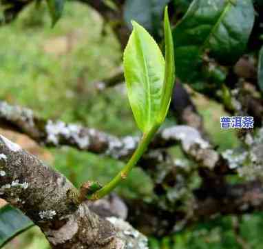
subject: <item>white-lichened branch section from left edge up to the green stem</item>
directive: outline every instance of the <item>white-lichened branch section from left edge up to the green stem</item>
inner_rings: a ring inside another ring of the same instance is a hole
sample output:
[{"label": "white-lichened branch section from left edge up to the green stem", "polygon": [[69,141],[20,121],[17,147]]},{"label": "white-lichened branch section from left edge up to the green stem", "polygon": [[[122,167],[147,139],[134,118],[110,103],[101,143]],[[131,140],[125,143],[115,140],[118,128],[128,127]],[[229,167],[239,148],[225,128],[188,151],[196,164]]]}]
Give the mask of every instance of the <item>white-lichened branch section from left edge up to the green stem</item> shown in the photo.
[{"label": "white-lichened branch section from left edge up to the green stem", "polygon": [[118,139],[104,132],[63,121],[36,117],[32,110],[0,101],[0,125],[10,125],[47,146],[72,146],[114,158],[127,157],[136,148],[138,138]]}]

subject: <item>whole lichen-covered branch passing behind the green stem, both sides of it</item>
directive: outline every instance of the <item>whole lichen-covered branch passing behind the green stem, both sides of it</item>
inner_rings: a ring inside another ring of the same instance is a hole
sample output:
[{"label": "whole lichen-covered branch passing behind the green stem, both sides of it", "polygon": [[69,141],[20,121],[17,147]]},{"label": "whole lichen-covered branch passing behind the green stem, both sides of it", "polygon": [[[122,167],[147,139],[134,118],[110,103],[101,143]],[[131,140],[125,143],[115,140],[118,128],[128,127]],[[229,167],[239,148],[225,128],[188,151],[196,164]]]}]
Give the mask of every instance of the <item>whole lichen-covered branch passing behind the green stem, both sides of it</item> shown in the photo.
[{"label": "whole lichen-covered branch passing behind the green stem, both sides of it", "polygon": [[[4,101],[0,101],[0,126],[1,123],[17,128],[47,146],[67,145],[116,159],[127,159],[136,149],[139,140],[138,137],[118,138],[93,128],[41,119],[28,108],[11,106]],[[220,161],[220,155],[213,150],[211,144],[202,139],[198,130],[189,126],[173,126],[161,130],[151,142],[150,148],[166,148],[176,144],[180,144],[185,154],[202,166],[213,168]],[[162,157],[160,152],[149,152],[144,157],[146,159],[160,162]]]}]

